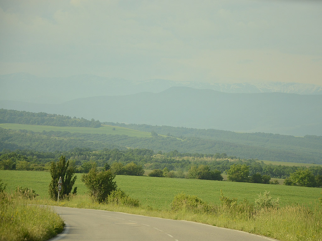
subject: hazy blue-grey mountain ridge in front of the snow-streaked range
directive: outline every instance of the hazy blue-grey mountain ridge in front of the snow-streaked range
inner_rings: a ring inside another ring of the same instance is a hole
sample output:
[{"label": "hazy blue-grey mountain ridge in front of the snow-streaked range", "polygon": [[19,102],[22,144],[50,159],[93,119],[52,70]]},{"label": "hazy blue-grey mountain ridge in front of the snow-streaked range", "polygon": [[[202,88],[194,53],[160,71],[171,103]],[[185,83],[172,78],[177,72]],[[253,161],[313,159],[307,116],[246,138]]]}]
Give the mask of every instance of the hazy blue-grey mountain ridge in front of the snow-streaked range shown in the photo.
[{"label": "hazy blue-grey mountain ridge in front of the snow-streaked range", "polygon": [[[28,91],[24,94],[38,95],[37,92]],[[57,98],[61,96],[63,91],[57,91]],[[321,94],[238,94],[171,87],[160,93],[94,96],[61,104],[2,100],[0,108],[56,113],[99,121],[322,136]]]}]

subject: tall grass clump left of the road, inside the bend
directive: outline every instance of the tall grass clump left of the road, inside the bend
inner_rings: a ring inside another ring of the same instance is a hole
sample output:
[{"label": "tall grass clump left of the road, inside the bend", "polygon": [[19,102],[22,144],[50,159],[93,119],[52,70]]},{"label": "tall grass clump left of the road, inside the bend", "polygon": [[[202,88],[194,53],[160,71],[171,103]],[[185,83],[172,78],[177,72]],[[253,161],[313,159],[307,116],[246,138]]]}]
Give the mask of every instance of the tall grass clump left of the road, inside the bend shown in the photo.
[{"label": "tall grass clump left of the road, inside the bend", "polygon": [[0,240],[48,240],[62,232],[64,222],[49,208],[28,205],[20,192],[0,192]]}]

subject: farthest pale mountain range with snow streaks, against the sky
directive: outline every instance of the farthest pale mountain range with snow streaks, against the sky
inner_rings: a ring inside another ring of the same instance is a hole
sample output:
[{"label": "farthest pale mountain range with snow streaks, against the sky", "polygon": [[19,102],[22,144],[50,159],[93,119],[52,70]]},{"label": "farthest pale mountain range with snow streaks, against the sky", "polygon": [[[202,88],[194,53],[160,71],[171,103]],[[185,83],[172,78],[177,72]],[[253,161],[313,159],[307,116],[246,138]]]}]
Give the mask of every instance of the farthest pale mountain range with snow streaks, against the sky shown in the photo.
[{"label": "farthest pale mountain range with snow streaks, against the sky", "polygon": [[118,96],[141,92],[159,93],[170,87],[191,87],[225,93],[322,94],[322,86],[299,83],[198,83],[164,79],[130,81],[95,75],[60,78],[37,77],[27,73],[0,75],[0,100],[58,104],[77,98]]}]

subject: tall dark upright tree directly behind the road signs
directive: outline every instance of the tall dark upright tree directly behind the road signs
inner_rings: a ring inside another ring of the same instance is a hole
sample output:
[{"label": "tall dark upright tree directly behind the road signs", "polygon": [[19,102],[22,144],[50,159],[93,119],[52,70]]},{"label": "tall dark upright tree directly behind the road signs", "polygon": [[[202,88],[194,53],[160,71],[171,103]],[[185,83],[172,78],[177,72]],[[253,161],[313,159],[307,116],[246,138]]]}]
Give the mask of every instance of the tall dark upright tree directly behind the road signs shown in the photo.
[{"label": "tall dark upright tree directly behind the road signs", "polygon": [[[60,191],[60,197],[62,199],[68,198],[71,193],[71,189],[76,181],[77,176],[73,167],[69,166],[69,161],[66,162],[66,157],[61,156],[58,162],[52,161],[49,166],[49,172],[52,176],[52,181],[49,184],[49,196],[52,200],[58,198],[58,182],[62,177],[62,191]],[[77,187],[74,188],[73,194],[76,194]]]}]

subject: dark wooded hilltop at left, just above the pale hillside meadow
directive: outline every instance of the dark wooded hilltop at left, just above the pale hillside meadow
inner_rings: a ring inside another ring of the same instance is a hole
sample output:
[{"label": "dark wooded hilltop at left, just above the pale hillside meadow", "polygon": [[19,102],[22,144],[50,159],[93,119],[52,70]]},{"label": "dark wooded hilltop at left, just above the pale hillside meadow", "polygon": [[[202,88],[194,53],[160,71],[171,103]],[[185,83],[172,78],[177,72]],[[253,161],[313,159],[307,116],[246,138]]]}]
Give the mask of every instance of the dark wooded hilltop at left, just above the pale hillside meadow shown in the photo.
[{"label": "dark wooded hilltop at left, just above the pale hillside meadow", "polygon": [[0,123],[15,123],[26,125],[45,125],[45,126],[78,126],[99,128],[101,123],[92,119],[71,118],[70,116],[47,114],[44,112],[33,113],[26,111],[15,111],[0,109]]}]

